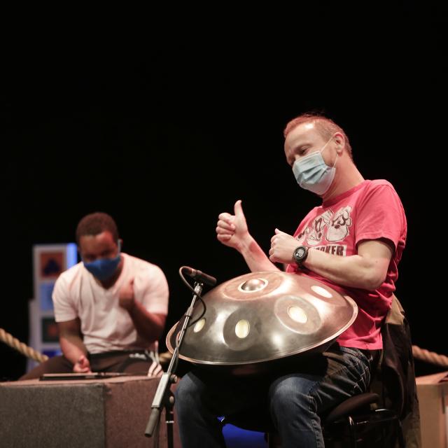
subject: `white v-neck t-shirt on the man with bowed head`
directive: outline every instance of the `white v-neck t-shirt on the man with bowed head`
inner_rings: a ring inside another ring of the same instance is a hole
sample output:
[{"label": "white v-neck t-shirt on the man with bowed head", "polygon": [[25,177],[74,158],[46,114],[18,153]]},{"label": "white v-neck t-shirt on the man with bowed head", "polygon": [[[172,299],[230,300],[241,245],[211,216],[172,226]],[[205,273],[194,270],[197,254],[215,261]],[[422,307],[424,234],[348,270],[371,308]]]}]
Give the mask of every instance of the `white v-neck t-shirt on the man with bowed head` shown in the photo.
[{"label": "white v-neck t-shirt on the man with bowed head", "polygon": [[151,313],[168,312],[168,283],[160,267],[140,258],[123,255],[123,269],[116,283],[104,289],[85,269],[83,262],[67,269],[57,279],[52,293],[57,322],[80,318],[84,344],[89,353],[112,350],[154,350],[137,335],[126,309],[118,304],[120,288],[134,279],[134,297]]}]

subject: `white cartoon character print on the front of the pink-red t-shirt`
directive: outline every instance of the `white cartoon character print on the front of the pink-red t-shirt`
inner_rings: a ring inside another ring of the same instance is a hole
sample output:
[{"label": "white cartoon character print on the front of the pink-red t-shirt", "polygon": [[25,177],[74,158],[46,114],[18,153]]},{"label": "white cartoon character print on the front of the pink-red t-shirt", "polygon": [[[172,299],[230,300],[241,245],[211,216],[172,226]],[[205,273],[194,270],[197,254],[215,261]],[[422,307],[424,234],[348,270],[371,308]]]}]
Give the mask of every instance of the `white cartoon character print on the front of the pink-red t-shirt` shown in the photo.
[{"label": "white cartoon character print on the front of the pink-red t-shirt", "polygon": [[337,255],[346,255],[346,244],[325,244],[328,242],[343,241],[350,235],[351,227],[351,207],[341,207],[336,213],[328,209],[323,214],[317,216],[311,225],[297,235],[299,244],[318,248],[321,251],[335,253]]}]

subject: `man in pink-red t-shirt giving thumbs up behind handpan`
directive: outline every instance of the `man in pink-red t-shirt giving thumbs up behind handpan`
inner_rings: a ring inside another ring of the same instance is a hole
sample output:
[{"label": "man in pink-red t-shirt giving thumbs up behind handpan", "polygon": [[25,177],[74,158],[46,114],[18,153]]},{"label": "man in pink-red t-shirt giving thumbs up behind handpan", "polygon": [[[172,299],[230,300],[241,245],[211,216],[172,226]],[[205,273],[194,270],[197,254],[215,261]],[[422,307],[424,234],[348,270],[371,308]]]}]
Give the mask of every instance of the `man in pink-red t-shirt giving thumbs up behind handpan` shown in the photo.
[{"label": "man in pink-red t-shirt giving thumbs up behind handpan", "polygon": [[[275,230],[269,258],[249,234],[241,201],[218,217],[218,240],[237,249],[252,272],[301,272],[358,304],[358,316],[315,366],[263,381],[223,381],[190,372],[177,389],[183,447],[225,446],[216,416],[267,402],[282,447],[323,447],[320,415],[367,391],[382,348],[381,323],[391,307],[406,241],[400,198],[387,181],[363,179],[344,130],[323,116],[304,114],[284,131],[286,160],[300,187],[322,198],[294,235]],[[324,360],[325,367],[322,369]],[[256,383],[256,384],[254,384]],[[264,389],[263,389],[264,388]]]}]

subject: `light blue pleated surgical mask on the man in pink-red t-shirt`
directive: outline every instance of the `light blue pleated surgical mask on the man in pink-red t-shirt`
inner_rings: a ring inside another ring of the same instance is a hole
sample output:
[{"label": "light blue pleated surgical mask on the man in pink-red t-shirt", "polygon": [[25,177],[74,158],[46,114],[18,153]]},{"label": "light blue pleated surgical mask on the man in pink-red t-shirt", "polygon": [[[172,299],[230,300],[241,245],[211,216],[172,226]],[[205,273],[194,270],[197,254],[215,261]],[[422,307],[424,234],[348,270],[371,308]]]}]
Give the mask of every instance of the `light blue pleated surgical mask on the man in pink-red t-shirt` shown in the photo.
[{"label": "light blue pleated surgical mask on the man in pink-red t-shirt", "polygon": [[324,195],[335,178],[337,158],[335,164],[329,167],[322,157],[322,151],[331,139],[332,137],[323,145],[321,151],[305,155],[295,160],[293,165],[293,173],[297,183],[305,190],[316,193],[316,195]]}]

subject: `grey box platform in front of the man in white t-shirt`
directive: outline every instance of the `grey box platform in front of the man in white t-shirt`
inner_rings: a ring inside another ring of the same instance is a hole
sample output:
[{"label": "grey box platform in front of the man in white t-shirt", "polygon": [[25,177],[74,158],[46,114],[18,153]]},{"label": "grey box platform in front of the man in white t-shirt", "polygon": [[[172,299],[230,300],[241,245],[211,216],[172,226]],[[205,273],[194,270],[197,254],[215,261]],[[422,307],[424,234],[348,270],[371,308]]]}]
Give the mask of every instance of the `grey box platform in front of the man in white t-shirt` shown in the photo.
[{"label": "grey box platform in front of the man in white t-shirt", "polygon": [[[155,437],[144,433],[157,386],[148,377],[2,382],[0,447],[153,447]],[[165,411],[159,430],[167,447]],[[174,447],[181,447],[176,416]]]}]

